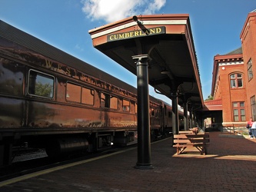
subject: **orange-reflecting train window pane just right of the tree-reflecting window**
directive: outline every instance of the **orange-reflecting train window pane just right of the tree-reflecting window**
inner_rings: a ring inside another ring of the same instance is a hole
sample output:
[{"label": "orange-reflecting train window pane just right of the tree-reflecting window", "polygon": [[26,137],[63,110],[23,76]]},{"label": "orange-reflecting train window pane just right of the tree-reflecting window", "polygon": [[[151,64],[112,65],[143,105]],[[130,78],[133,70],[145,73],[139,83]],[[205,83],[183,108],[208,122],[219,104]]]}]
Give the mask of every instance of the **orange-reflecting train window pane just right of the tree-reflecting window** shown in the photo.
[{"label": "orange-reflecting train window pane just right of the tree-reflecting window", "polygon": [[67,101],[81,102],[81,86],[67,83]]}]

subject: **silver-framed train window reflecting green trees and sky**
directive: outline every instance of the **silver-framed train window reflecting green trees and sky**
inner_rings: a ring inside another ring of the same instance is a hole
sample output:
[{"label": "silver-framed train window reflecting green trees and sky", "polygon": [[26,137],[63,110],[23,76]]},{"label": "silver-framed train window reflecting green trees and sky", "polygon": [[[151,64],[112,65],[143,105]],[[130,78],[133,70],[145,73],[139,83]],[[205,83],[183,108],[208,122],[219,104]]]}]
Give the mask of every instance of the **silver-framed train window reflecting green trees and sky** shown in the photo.
[{"label": "silver-framed train window reflecting green trees and sky", "polygon": [[39,73],[38,71],[29,71],[28,94],[52,98],[54,88],[54,77]]}]

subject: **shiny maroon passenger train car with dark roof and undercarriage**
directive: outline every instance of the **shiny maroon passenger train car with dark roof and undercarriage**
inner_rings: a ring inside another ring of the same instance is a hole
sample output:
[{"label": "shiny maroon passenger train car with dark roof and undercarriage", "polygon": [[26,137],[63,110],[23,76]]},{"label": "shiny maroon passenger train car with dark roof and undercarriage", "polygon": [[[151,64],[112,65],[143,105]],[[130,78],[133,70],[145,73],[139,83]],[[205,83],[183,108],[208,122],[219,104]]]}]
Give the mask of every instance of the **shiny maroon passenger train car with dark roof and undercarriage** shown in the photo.
[{"label": "shiny maroon passenger train car with dark roof and undercarriage", "polygon": [[[136,88],[0,21],[0,166],[26,142],[55,157],[137,142]],[[150,97],[151,137],[171,106]]]}]

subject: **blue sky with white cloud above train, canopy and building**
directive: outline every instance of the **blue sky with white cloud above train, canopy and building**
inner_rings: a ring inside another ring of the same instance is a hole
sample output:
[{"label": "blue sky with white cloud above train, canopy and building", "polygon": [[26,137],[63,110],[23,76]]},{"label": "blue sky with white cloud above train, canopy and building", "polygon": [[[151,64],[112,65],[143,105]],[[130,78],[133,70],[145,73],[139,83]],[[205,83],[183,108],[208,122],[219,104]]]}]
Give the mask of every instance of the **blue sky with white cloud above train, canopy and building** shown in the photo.
[{"label": "blue sky with white cloud above train, canopy and building", "polygon": [[[190,16],[204,99],[211,94],[214,55],[241,47],[255,0],[0,0],[0,19],[136,87],[136,77],[93,48],[88,31],[133,15]],[[150,88],[150,94],[170,102]]]}]

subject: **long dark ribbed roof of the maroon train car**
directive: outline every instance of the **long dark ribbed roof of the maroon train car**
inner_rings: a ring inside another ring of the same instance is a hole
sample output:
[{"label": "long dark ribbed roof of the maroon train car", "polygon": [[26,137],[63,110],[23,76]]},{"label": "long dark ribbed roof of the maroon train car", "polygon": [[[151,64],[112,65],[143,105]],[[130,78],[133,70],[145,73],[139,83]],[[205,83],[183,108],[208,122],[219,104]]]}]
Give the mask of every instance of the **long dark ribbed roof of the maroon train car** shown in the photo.
[{"label": "long dark ribbed roof of the maroon train car", "polygon": [[8,25],[2,20],[0,20],[0,37],[5,38],[8,41],[12,41],[15,44],[22,45],[23,47],[28,48],[32,51],[38,52],[47,58],[51,58],[52,60],[68,65],[71,68],[75,68],[79,71],[89,74],[92,77],[104,80],[110,84],[114,84],[118,88],[124,88],[131,93],[137,94],[137,89],[130,84],[127,84],[124,81],[121,81],[120,79],[115,78],[111,74],[101,71],[100,69],[95,68],[92,65],[89,65],[85,61],[81,61],[80,59],[69,55],[65,51],[49,45],[45,41],[29,35],[25,31],[21,31],[18,28],[13,27],[12,25]]}]

